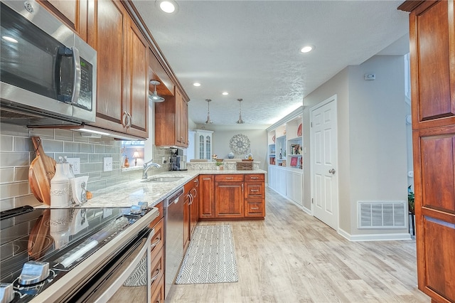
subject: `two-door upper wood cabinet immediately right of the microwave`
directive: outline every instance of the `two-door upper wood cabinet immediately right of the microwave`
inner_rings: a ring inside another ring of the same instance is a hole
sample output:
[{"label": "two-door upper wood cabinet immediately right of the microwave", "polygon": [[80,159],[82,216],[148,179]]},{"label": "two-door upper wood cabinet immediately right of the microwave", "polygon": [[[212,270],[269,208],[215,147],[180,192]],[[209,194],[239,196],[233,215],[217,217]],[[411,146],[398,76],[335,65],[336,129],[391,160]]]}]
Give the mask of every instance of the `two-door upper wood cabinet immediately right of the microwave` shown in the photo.
[{"label": "two-door upper wood cabinet immediately right of the microwave", "polygon": [[97,50],[94,126],[148,137],[148,44],[121,2],[95,1],[88,43]]}]

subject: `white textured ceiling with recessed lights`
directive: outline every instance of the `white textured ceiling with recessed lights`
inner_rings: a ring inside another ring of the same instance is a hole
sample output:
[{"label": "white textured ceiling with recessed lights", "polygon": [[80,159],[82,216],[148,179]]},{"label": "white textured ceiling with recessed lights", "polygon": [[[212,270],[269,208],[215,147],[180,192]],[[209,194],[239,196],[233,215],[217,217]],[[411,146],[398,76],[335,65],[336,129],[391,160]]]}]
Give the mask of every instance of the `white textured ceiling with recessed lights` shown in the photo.
[{"label": "white textured ceiling with recessed lights", "polygon": [[[196,124],[207,119],[207,98],[217,125],[235,124],[237,98],[245,124],[273,124],[343,68],[408,33],[402,1],[177,2],[165,14],[153,0],[133,1],[191,98]],[[299,53],[306,44],[316,49]]]}]

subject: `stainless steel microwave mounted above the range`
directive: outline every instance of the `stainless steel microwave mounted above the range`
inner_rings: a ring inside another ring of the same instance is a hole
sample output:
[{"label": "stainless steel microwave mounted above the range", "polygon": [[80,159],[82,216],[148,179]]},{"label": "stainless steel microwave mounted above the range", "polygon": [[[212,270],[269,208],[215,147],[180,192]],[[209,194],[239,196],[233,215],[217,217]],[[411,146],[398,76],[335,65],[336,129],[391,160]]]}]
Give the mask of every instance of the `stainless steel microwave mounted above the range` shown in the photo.
[{"label": "stainless steel microwave mounted above the range", "polygon": [[97,53],[36,1],[1,1],[1,122],[95,122]]}]

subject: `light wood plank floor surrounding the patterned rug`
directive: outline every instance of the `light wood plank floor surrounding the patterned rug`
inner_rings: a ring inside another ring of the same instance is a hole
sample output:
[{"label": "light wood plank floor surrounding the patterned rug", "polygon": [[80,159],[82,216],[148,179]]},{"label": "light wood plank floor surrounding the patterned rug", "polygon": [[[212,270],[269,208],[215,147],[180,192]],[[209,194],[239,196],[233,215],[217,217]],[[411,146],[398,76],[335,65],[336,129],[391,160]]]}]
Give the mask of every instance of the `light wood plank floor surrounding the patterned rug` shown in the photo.
[{"label": "light wood plank floor surrounding the patterned rug", "polygon": [[265,220],[230,224],[239,282],[173,285],[166,302],[430,302],[415,240],[349,242],[267,188]]}]

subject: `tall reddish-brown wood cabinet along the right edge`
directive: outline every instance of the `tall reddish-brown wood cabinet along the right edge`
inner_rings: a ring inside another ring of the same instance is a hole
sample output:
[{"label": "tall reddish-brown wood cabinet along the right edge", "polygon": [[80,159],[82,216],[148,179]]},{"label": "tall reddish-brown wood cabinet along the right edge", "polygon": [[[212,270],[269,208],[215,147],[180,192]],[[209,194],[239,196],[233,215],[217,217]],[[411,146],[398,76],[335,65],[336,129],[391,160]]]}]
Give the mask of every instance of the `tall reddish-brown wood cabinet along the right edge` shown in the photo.
[{"label": "tall reddish-brown wood cabinet along the right edge", "polygon": [[412,145],[419,289],[455,302],[455,4],[405,1],[410,11]]}]

